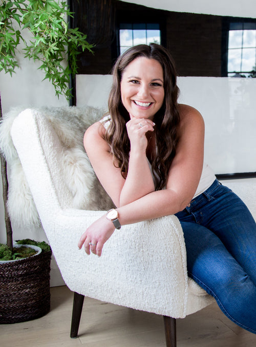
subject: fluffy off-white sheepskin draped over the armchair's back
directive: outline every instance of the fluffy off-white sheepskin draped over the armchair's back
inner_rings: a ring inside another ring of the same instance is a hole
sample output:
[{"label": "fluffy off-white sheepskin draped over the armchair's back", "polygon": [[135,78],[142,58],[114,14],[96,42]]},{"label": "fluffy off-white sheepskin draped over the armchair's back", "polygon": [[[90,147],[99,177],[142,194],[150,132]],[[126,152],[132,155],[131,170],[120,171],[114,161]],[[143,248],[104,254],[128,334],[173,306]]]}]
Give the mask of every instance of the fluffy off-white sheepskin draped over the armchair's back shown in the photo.
[{"label": "fluffy off-white sheepskin draped over the armchair's back", "polygon": [[[20,226],[40,225],[25,174],[11,139],[11,126],[24,108],[12,108],[0,124],[0,148],[8,164],[8,212]],[[113,202],[99,183],[83,148],[86,129],[102,118],[105,110],[95,107],[37,108],[51,123],[63,145],[63,176],[73,196],[73,206],[82,210],[108,210]]]}]

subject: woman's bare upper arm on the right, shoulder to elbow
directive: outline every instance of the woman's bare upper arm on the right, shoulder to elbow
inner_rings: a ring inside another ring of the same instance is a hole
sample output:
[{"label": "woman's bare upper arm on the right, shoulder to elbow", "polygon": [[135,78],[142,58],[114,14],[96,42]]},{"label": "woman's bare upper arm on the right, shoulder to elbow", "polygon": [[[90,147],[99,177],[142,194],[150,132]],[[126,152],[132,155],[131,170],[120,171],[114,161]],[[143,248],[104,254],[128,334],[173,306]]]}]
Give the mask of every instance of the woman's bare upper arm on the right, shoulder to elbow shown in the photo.
[{"label": "woman's bare upper arm on the right, shoulder to elbow", "polygon": [[193,198],[202,174],[204,121],[195,108],[187,105],[180,105],[180,115],[179,142],[166,189],[177,193],[182,210]]}]

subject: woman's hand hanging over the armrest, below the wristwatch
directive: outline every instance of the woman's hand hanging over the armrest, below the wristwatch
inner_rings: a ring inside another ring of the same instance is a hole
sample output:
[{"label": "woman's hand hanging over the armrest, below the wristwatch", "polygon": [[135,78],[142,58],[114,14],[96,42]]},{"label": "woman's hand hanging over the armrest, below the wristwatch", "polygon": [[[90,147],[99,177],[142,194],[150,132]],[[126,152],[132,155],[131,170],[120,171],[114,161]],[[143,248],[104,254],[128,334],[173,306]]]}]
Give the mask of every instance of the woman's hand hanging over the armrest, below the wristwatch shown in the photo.
[{"label": "woman's hand hanging over the armrest, below the wristwatch", "polygon": [[88,255],[90,252],[98,257],[101,256],[104,243],[111,237],[115,231],[114,224],[106,219],[106,215],[93,222],[82,234],[78,242],[78,248],[84,245],[84,250]]}]

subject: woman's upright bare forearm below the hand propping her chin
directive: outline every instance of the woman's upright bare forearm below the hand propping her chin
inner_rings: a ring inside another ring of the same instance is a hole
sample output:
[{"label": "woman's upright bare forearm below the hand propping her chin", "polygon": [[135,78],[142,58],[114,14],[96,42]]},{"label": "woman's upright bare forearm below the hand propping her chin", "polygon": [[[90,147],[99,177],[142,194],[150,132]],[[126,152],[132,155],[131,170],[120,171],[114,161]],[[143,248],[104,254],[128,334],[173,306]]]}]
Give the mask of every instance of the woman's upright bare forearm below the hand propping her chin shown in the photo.
[{"label": "woman's upright bare forearm below the hand propping her chin", "polygon": [[129,204],[155,191],[146,154],[131,151],[129,170],[120,194],[120,206]]}]

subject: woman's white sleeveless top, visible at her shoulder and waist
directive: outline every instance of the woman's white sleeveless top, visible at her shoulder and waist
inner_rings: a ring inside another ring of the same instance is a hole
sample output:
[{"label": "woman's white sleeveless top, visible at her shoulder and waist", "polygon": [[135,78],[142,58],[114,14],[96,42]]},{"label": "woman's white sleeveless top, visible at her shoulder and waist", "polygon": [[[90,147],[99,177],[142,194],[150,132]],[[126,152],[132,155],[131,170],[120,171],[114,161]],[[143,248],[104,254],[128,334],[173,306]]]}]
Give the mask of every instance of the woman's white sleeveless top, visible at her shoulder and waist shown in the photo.
[{"label": "woman's white sleeveless top, visible at her shoulder and waist", "polygon": [[[100,120],[100,123],[103,125],[105,129],[108,129],[111,123],[110,115],[106,115],[102,120]],[[148,165],[150,165],[150,168],[151,168],[150,161],[149,160],[147,161],[148,161]],[[151,172],[152,172],[152,168],[151,168]],[[204,163],[201,178],[200,178],[200,181],[199,181],[199,184],[193,199],[197,197],[198,195],[202,194],[204,191],[206,191],[206,189],[208,189],[215,180],[216,180],[216,176],[214,174],[214,171],[208,166],[208,164]]]}]

